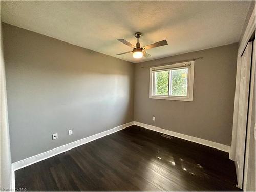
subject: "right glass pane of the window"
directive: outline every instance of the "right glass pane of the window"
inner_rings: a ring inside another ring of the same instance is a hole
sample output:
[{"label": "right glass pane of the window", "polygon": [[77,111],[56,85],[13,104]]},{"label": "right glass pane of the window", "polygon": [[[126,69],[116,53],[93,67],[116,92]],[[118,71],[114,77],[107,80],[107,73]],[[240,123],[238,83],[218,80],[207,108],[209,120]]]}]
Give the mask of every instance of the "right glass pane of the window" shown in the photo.
[{"label": "right glass pane of the window", "polygon": [[170,71],[171,78],[171,96],[187,96],[187,73],[188,68],[175,69]]}]

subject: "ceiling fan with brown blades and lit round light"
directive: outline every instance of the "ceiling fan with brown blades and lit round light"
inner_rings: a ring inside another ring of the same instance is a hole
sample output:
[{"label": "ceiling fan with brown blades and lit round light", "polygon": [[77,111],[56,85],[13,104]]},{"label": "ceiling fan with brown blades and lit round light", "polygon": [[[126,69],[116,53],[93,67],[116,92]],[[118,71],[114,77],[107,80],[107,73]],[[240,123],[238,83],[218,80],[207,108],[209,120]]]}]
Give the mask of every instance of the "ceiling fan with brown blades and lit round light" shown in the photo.
[{"label": "ceiling fan with brown blades and lit round light", "polygon": [[124,53],[119,53],[117,55],[122,55],[122,54],[126,54],[126,53],[131,53],[133,52],[133,57],[136,58],[136,59],[139,59],[141,58],[142,56],[144,57],[150,57],[151,55],[146,53],[144,50],[146,49],[151,49],[151,48],[154,48],[154,47],[159,47],[159,46],[164,46],[164,45],[168,45],[167,41],[166,40],[161,40],[159,42],[155,42],[154,44],[150,44],[150,45],[147,45],[147,46],[142,46],[140,47],[140,43],[139,43],[139,38],[141,37],[141,33],[140,32],[136,32],[134,34],[134,36],[137,38],[137,43],[136,43],[136,46],[134,46],[133,44],[131,44],[130,42],[124,40],[124,39],[117,39],[119,40],[120,42],[122,42],[123,44],[127,45],[127,46],[130,46],[131,48],[133,48],[132,51],[127,51],[127,52],[124,52]]}]

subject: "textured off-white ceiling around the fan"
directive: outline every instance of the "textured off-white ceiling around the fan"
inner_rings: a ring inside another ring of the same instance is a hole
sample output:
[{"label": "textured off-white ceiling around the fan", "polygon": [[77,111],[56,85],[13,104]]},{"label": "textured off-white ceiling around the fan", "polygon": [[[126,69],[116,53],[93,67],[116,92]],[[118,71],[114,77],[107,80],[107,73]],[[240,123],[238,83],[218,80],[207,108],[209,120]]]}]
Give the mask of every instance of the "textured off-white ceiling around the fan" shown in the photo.
[{"label": "textured off-white ceiling around the fan", "polygon": [[[1,1],[3,22],[131,62],[238,42],[250,1]],[[117,41],[167,46],[134,59]]]}]

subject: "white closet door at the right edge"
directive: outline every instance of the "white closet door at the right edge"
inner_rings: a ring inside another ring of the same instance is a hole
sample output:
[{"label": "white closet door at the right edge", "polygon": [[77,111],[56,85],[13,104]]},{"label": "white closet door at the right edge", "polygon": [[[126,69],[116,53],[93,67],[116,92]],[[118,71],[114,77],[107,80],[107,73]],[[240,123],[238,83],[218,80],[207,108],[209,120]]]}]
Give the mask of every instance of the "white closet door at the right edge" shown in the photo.
[{"label": "white closet door at the right edge", "polygon": [[236,149],[236,171],[238,187],[243,186],[244,156],[245,156],[245,138],[247,127],[248,98],[250,86],[250,68],[252,42],[248,42],[241,58],[241,76],[238,104],[238,124],[237,124],[237,149]]}]

